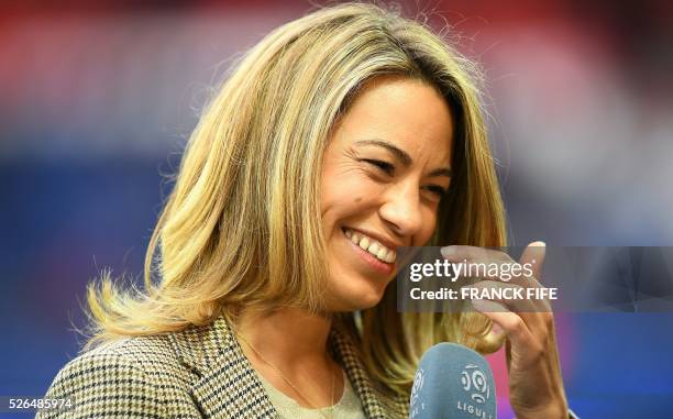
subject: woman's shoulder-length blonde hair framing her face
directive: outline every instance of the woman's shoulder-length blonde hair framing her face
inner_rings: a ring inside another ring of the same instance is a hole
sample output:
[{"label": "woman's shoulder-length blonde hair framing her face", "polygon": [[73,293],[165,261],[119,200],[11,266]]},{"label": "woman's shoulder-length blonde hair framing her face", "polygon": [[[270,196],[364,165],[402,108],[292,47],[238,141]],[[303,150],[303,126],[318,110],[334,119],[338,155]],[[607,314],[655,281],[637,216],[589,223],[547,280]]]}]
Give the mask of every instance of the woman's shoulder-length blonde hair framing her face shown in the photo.
[{"label": "woman's shoulder-length blonde hair framing her face", "polygon": [[[481,110],[475,65],[423,24],[372,4],[326,8],[268,34],[206,108],[145,258],[144,291],[103,274],[89,284],[85,349],[121,337],[179,331],[241,308],[319,312],[319,185],[330,131],[374,77],[423,80],[455,121],[451,192],[431,245],[506,244],[505,214]],[[155,280],[156,279],[156,280]],[[383,300],[339,315],[361,343],[372,377],[406,395],[420,354],[439,341],[492,352],[476,313],[398,313],[395,283]]]}]

